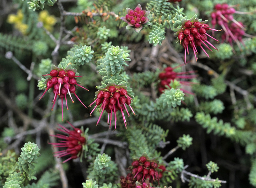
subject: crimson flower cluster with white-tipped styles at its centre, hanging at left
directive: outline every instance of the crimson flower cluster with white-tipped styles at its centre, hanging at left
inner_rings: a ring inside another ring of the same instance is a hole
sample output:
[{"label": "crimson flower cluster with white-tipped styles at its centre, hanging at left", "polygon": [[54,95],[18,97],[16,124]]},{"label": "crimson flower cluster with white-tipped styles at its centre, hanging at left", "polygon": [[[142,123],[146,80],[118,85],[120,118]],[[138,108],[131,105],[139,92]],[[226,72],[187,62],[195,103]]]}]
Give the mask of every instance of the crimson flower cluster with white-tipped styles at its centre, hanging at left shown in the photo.
[{"label": "crimson flower cluster with white-tipped styles at its centre, hanging at left", "polygon": [[[40,99],[42,99],[42,97],[44,96],[44,94],[48,89],[53,88],[54,98],[53,98],[52,110],[58,95],[61,98],[61,114],[62,114],[62,120],[63,120],[63,98],[65,98],[66,107],[68,110],[67,96],[66,96],[67,94],[69,94],[73,103],[74,101],[72,99],[71,93],[73,93],[76,96],[76,98],[82,103],[79,97],[75,94],[76,86],[82,87],[76,82],[76,77],[81,77],[81,76],[75,76],[74,70],[71,70],[71,69],[70,70],[53,69],[51,70],[50,74],[43,75],[43,76],[51,76],[51,77],[46,80],[47,87],[43,95],[40,97]],[[84,87],[82,88],[86,89]],[[87,108],[84,104],[83,106]]]}]

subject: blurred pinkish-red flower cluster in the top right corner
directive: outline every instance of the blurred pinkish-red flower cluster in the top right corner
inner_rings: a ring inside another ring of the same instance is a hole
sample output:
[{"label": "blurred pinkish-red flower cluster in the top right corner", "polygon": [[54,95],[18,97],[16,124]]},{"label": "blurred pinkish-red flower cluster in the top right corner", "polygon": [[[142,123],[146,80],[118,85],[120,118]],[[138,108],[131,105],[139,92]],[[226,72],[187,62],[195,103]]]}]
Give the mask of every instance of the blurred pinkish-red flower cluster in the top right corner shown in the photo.
[{"label": "blurred pinkish-red flower cluster in the top right corner", "polygon": [[[239,41],[242,40],[242,36],[245,34],[245,28],[241,22],[237,22],[234,19],[233,14],[236,12],[237,11],[227,3],[217,4],[214,6],[214,11],[211,13],[211,23],[213,28],[218,24],[224,30],[225,33],[222,34],[222,39],[226,39],[231,45],[232,42],[235,41],[241,49]],[[231,24],[230,21],[232,21]]]}]

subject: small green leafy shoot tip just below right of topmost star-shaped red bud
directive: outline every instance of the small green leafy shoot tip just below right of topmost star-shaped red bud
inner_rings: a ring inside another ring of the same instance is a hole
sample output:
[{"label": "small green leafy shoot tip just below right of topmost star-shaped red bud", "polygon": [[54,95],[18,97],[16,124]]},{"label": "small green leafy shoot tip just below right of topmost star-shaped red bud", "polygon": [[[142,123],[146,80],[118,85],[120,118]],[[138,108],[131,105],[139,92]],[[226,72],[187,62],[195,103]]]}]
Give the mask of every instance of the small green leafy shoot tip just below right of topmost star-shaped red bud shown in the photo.
[{"label": "small green leafy shoot tip just below right of topmost star-shaped red bud", "polygon": [[149,44],[162,45],[162,41],[165,39],[164,26],[162,24],[153,25],[152,31],[149,33]]}]

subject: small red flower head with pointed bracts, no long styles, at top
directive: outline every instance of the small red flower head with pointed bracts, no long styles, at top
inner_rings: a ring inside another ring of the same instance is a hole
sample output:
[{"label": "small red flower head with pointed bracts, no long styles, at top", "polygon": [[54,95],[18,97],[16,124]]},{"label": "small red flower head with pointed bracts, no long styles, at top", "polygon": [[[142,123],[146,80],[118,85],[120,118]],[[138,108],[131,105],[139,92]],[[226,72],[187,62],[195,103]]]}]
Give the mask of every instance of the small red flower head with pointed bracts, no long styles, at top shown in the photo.
[{"label": "small red flower head with pointed bracts, no long styles, at top", "polygon": [[150,24],[147,18],[147,15],[150,13],[149,10],[142,10],[140,4],[132,10],[130,8],[126,8],[127,14],[124,17],[121,17],[123,21],[128,23],[126,29],[134,28],[136,32],[140,32],[142,29],[142,25]]}]

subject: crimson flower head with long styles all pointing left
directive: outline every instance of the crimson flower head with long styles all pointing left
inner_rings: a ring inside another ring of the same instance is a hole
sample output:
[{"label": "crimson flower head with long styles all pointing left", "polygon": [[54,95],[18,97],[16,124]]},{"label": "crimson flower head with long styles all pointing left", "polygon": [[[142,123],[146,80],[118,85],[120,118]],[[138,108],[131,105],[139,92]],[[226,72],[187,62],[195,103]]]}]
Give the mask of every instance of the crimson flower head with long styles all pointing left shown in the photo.
[{"label": "crimson flower head with long styles all pointing left", "polygon": [[71,155],[71,157],[64,160],[63,163],[67,162],[68,160],[78,158],[82,154],[83,145],[86,143],[86,138],[83,136],[82,130],[75,128],[70,122],[68,123],[73,127],[74,130],[70,131],[60,124],[59,126],[61,128],[57,128],[59,131],[68,134],[67,136],[63,134],[50,135],[63,140],[61,140],[59,143],[49,144],[52,144],[53,147],[66,148],[64,150],[54,152],[54,157],[64,157],[66,155]]}]

